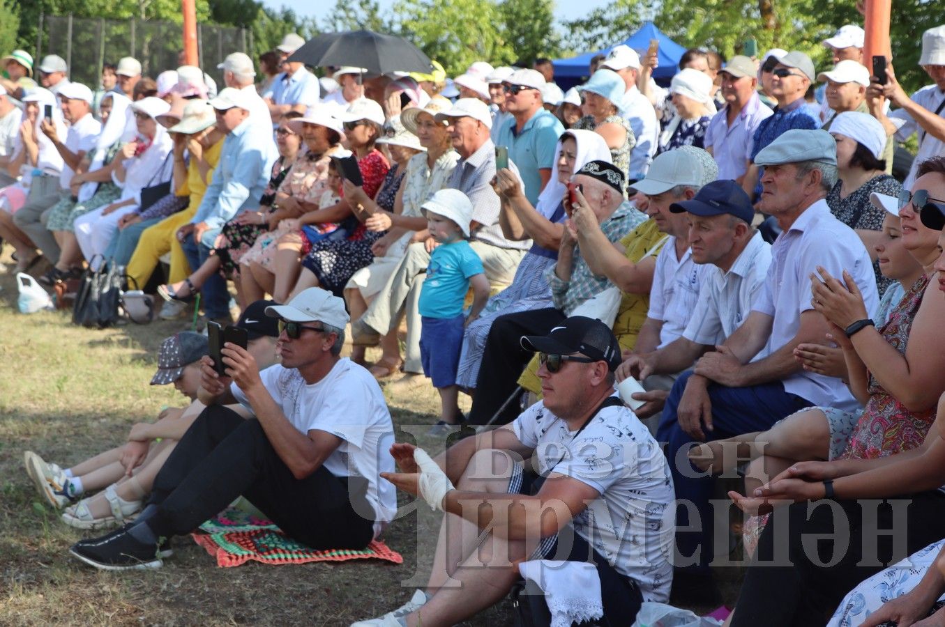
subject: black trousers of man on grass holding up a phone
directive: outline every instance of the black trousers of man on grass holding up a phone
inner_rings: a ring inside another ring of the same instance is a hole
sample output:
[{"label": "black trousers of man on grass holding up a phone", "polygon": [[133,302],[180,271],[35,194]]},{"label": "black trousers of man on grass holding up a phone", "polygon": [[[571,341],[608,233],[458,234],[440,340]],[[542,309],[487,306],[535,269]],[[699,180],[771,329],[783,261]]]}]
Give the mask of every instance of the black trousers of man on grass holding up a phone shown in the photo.
[{"label": "black trousers of man on grass holding up a phone", "polygon": [[296,479],[255,418],[217,405],[187,430],[154,480],[147,525],[159,536],[188,534],[239,496],[292,538],[317,551],[364,549],[373,537],[368,482],[324,466]]}]

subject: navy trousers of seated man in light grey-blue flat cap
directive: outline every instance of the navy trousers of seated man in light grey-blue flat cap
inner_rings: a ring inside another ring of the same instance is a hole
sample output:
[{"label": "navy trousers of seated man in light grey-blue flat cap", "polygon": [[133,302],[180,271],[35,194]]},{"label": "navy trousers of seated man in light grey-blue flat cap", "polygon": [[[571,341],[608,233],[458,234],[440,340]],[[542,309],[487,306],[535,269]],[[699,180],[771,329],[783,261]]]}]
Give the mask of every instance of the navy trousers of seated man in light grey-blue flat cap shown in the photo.
[{"label": "navy trousers of seated man in light grey-blue flat cap", "polygon": [[[709,562],[713,558],[714,519],[712,503],[709,502],[713,494],[713,478],[705,476],[689,462],[686,451],[695,440],[682,431],[677,420],[679,400],[692,374],[692,370],[684,372],[673,385],[662,410],[656,439],[666,443],[666,459],[673,473],[673,485],[679,501],[676,510],[676,524],[679,527],[676,532],[677,551],[686,564],[695,562],[688,568],[708,572]],[[704,427],[702,429],[709,440],[765,431],[783,417],[811,406],[807,400],[785,392],[781,381],[750,387],[726,387],[712,383],[709,385],[709,398],[712,400],[713,431],[706,431]],[[679,466],[682,466],[683,471],[680,471]],[[692,524],[697,531],[679,531],[690,524],[689,507],[696,509],[698,519]],[[728,524],[728,517],[725,524]],[[727,546],[719,549],[728,553]]]}]

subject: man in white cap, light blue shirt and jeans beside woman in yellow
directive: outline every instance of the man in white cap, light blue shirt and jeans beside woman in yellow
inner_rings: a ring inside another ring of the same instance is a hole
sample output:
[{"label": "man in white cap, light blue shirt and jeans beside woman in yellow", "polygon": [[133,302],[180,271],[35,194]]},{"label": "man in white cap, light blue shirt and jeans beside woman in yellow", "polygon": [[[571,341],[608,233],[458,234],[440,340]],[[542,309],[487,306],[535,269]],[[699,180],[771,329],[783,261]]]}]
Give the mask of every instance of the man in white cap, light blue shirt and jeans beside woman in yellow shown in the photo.
[{"label": "man in white cap, light blue shirt and jeans beside woman in yellow", "polygon": [[[258,98],[248,90],[227,87],[210,104],[216,128],[226,133],[220,161],[197,213],[178,230],[178,239],[192,268],[200,267],[214,249],[220,229],[239,213],[255,210],[266,190],[278,153],[270,127],[250,119]],[[229,322],[230,294],[219,275],[203,283],[203,311],[208,318]]]}]

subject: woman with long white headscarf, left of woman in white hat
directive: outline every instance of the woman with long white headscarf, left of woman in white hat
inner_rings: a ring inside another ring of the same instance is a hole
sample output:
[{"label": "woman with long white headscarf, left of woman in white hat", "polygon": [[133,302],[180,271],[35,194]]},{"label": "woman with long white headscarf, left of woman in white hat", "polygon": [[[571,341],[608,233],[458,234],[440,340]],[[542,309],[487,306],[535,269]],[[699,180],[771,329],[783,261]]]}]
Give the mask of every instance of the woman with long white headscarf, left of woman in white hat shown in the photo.
[{"label": "woman with long white headscarf, left of woman in white hat", "polygon": [[103,126],[94,150],[72,177],[72,195],[60,200],[46,221],[46,229],[53,232],[61,250],[59,262],[41,279],[47,284],[81,272],[82,251],[73,228],[76,219],[113,203],[122,193],[112,182],[112,170],[121,147],[137,134],[131,101],[122,93],[109,92],[102,96],[99,111]]}]

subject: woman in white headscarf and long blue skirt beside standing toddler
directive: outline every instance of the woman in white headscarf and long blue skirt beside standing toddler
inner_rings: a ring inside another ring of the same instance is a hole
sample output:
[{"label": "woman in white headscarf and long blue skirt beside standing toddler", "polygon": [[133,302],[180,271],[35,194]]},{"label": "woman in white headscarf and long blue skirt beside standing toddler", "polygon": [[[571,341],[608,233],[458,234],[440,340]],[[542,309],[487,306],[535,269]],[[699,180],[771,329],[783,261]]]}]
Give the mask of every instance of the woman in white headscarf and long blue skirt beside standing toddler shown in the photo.
[{"label": "woman in white headscarf and long blue skirt beside standing toddler", "polygon": [[548,180],[538,206],[532,207],[524,195],[522,181],[511,170],[496,173],[493,188],[502,199],[499,224],[503,233],[513,241],[530,239],[534,244],[522,258],[519,268],[505,290],[490,297],[479,317],[470,320],[463,335],[456,384],[474,388],[479,375],[482,351],[492,327],[492,321],[503,314],[514,314],[532,309],[552,307],[551,288],[544,280],[545,270],[558,261],[558,245],[564,231],[562,224],[567,215],[562,200],[567,182],[588,161],[610,163],[610,147],[593,130],[570,129],[558,138],[558,176]]}]

